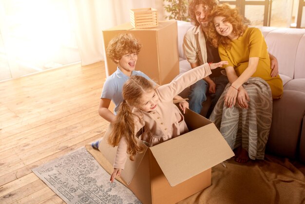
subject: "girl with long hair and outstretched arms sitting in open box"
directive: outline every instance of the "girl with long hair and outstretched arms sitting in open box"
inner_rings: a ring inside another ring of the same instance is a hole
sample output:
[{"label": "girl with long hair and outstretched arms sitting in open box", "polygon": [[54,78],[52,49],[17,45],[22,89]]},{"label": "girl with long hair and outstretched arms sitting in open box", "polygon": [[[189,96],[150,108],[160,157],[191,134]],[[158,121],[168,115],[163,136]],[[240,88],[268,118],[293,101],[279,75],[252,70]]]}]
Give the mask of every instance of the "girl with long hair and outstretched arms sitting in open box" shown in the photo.
[{"label": "girl with long hair and outstretched arms sitting in open box", "polygon": [[[108,142],[118,146],[111,182],[124,169],[127,155],[133,156],[142,149],[136,133],[144,127],[140,140],[149,146],[165,142],[188,132],[184,117],[172,103],[175,95],[183,89],[210,75],[211,70],[226,61],[205,63],[184,73],[169,84],[154,89],[152,83],[140,76],[132,76],[123,86],[123,102],[117,113]],[[131,108],[133,107],[133,108]]]}]

